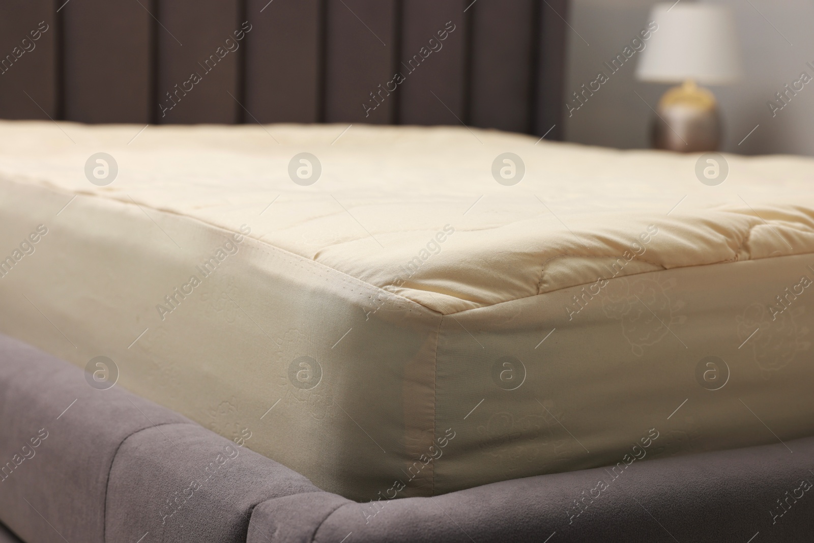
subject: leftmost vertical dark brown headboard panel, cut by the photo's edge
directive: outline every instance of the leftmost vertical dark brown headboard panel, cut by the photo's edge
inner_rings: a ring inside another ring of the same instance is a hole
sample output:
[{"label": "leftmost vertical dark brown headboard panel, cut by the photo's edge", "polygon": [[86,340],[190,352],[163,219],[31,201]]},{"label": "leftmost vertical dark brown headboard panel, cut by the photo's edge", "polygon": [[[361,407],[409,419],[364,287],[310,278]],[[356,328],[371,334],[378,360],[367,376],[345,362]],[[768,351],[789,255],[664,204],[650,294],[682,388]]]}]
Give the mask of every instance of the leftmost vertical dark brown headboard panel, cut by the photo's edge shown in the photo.
[{"label": "leftmost vertical dark brown headboard panel, cut by the photo's edge", "polygon": [[2,2],[0,104],[13,105],[2,107],[7,119],[59,116],[55,13],[54,0]]}]

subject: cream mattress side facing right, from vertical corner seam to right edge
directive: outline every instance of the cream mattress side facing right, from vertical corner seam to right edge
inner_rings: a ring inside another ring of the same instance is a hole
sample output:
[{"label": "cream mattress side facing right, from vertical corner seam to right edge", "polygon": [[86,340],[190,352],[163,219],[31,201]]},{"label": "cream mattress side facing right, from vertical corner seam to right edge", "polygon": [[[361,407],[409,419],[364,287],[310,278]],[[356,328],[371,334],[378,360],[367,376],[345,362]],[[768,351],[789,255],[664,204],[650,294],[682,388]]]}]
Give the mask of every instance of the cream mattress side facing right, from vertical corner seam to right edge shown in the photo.
[{"label": "cream mattress side facing right, from vertical corner seam to right edge", "polygon": [[435,493],[814,434],[812,265],[663,270],[444,319]]}]

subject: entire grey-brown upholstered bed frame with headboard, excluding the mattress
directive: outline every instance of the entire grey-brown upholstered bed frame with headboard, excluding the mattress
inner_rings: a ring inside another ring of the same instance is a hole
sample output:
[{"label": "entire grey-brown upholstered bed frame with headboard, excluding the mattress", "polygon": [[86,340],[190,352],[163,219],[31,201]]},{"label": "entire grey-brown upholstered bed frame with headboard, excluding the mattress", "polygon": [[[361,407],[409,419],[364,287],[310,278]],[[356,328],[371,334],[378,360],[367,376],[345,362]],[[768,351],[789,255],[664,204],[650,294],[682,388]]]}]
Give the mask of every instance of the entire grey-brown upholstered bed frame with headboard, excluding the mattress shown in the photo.
[{"label": "entire grey-brown upholstered bed frame with headboard, excluding the mattress", "polygon": [[[563,17],[566,0],[3,0],[0,118],[558,138]],[[787,445],[637,462],[598,497],[602,468],[357,504],[0,336],[0,522],[27,543],[811,541],[814,438]]]}]

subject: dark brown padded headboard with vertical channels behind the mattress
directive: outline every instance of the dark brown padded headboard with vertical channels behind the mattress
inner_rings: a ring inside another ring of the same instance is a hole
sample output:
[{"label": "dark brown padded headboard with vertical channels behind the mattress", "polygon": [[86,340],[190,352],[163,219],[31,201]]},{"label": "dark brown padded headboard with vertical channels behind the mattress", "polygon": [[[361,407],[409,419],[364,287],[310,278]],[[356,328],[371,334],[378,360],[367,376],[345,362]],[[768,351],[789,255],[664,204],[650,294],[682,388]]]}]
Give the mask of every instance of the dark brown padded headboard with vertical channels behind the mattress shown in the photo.
[{"label": "dark brown padded headboard with vertical channels behind the mattress", "polygon": [[567,0],[3,0],[0,118],[558,138],[565,18]]}]

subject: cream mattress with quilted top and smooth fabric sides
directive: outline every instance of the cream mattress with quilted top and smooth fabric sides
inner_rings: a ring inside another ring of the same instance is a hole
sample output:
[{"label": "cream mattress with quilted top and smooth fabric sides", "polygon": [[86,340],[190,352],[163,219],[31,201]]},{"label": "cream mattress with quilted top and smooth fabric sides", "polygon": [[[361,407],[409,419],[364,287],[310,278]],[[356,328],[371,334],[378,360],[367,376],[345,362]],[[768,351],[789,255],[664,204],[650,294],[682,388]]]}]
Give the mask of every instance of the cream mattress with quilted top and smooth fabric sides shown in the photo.
[{"label": "cream mattress with quilted top and smooth fabric sides", "polygon": [[812,435],[814,161],[706,160],[4,121],[0,331],[357,501]]}]

